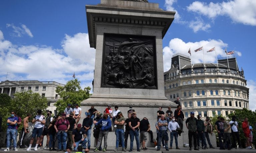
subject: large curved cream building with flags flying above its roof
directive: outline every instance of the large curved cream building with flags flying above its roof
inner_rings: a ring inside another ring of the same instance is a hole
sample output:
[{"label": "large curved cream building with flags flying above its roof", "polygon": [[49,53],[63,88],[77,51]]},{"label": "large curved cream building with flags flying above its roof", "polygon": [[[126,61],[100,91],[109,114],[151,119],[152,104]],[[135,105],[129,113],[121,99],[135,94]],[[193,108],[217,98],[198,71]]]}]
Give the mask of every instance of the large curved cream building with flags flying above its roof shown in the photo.
[{"label": "large curved cream building with flags flying above its roof", "polygon": [[176,54],[172,57],[171,69],[164,73],[164,85],[169,100],[180,97],[186,118],[192,111],[205,118],[249,109],[249,88],[235,57],[219,59],[218,64],[191,65],[188,56]]}]

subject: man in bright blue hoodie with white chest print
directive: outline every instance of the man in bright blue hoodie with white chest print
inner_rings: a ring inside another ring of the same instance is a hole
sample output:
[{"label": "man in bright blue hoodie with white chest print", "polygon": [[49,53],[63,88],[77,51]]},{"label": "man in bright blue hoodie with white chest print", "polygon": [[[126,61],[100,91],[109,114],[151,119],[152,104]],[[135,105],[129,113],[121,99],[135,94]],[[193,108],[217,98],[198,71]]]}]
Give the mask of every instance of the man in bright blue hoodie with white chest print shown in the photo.
[{"label": "man in bright blue hoodie with white chest print", "polygon": [[103,147],[103,152],[107,151],[107,140],[108,140],[108,131],[111,128],[111,120],[108,118],[107,113],[103,115],[103,118],[98,121],[95,125],[101,124],[101,130],[100,130],[100,135],[98,139],[98,143],[94,151],[99,151],[100,143],[102,140],[102,137],[104,137],[104,147]]}]

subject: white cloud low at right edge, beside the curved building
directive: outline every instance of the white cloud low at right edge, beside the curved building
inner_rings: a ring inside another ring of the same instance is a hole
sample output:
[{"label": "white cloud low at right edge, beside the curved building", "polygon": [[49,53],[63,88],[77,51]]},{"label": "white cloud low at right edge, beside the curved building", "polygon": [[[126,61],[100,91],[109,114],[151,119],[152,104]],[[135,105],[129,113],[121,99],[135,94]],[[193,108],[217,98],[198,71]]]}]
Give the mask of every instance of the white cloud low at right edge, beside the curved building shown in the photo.
[{"label": "white cloud low at right edge, beside the curved building", "polygon": [[249,108],[252,111],[256,110],[256,82],[254,80],[247,80],[246,87],[249,88]]}]

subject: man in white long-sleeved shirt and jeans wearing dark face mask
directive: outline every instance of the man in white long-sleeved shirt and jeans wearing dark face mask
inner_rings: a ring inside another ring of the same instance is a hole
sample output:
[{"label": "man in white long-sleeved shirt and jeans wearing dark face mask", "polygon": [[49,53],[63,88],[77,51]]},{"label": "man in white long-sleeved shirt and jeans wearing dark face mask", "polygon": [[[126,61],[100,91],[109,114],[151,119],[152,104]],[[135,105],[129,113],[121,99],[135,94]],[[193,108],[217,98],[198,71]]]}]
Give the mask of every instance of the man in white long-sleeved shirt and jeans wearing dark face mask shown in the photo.
[{"label": "man in white long-sleeved shirt and jeans wearing dark face mask", "polygon": [[172,121],[170,121],[168,123],[168,129],[169,131],[171,132],[170,133],[170,148],[169,149],[172,149],[172,142],[173,142],[173,137],[175,139],[175,145],[176,145],[176,149],[180,149],[178,147],[178,131],[177,131],[177,128],[180,128],[179,124],[177,122],[175,122],[175,117],[173,116],[172,117]]}]

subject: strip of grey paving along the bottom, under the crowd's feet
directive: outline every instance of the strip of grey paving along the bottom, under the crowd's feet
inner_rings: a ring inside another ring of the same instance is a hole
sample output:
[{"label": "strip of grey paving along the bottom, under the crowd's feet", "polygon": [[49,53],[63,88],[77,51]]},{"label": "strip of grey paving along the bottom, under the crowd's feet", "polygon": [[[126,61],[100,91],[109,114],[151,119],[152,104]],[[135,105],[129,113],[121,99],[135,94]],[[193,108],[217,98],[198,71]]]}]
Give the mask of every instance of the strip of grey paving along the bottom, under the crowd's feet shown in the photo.
[{"label": "strip of grey paving along the bottom, under the crowd's feet", "polygon": [[[2,148],[0,149],[0,152],[5,152],[3,151],[5,148]],[[13,151],[13,150],[10,150],[8,152],[26,152],[26,149],[18,149],[18,151]],[[94,148],[91,148],[90,152],[93,152],[93,149]],[[112,152],[114,153],[114,147],[108,147],[107,148],[107,152]],[[219,148],[215,148],[215,149],[200,149],[199,151],[196,151],[196,150],[193,150],[192,151],[189,151],[189,148],[185,148],[185,147],[180,147],[180,150],[178,149],[170,149],[170,151],[165,151],[164,148],[161,148],[160,151],[156,151],[156,148],[153,148],[153,147],[149,147],[148,148],[149,150],[148,151],[140,151],[140,153],[167,153],[167,152],[179,152],[179,153],[186,153],[186,152],[207,152],[207,153],[216,153],[216,152],[256,152],[255,149],[231,149],[231,150],[219,150]],[[127,152],[126,153],[129,153],[128,152],[129,149],[127,149]],[[46,152],[50,152],[50,153],[55,153],[57,151],[49,151],[49,150],[44,150],[44,149],[38,149],[38,151],[34,151],[34,148],[31,148],[31,151],[29,151],[30,153],[46,153]],[[72,151],[73,153],[74,151]],[[59,151],[58,153],[64,153],[63,151]],[[102,151],[99,151],[99,153],[102,153]],[[121,149],[119,148],[119,151],[118,152],[115,152],[115,153],[122,153],[121,152]],[[132,153],[138,153],[136,150],[133,150]]]}]

